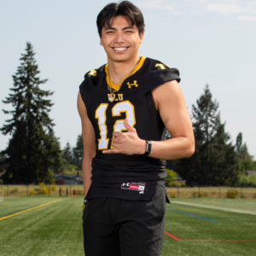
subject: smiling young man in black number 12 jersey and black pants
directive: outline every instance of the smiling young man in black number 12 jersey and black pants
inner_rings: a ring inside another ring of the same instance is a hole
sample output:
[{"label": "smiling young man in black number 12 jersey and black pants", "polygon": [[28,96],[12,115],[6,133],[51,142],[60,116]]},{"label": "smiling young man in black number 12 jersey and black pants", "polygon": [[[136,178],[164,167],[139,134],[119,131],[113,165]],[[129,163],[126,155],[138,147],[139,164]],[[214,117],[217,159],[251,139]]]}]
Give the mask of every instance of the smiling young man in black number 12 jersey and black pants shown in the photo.
[{"label": "smiling young man in black number 12 jersey and black pants", "polygon": [[195,150],[177,69],[137,55],[144,26],[128,1],[102,9],[97,27],[108,64],[86,73],[79,88],[86,256],[160,255],[165,160]]}]

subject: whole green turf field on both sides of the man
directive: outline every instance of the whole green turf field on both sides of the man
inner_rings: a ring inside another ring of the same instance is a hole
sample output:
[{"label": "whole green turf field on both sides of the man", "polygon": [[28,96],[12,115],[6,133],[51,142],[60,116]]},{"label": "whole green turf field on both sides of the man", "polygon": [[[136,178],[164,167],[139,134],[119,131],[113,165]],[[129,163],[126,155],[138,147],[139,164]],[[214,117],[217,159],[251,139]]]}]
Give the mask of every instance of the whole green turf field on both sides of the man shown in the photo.
[{"label": "whole green turf field on both sides of the man", "polygon": [[[71,197],[5,198],[0,255],[84,255],[81,205]],[[172,199],[161,255],[256,255],[256,200]]]}]

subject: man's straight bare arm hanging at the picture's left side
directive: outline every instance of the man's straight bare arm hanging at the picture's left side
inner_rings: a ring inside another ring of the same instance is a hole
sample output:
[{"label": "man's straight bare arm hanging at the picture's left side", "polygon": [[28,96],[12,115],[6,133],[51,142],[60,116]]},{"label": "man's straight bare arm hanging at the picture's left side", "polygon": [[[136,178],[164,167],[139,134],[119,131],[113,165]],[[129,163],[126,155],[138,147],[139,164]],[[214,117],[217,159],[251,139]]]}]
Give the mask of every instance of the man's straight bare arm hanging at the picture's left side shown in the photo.
[{"label": "man's straight bare arm hanging at the picture's left side", "polygon": [[84,158],[83,158],[83,180],[84,180],[84,195],[87,195],[87,192],[90,188],[90,177],[91,177],[91,160],[96,155],[96,137],[93,126],[90,123],[88,118],[87,111],[82,100],[82,97],[79,92],[78,96],[78,109],[79,115],[82,122],[82,135],[84,143]]}]

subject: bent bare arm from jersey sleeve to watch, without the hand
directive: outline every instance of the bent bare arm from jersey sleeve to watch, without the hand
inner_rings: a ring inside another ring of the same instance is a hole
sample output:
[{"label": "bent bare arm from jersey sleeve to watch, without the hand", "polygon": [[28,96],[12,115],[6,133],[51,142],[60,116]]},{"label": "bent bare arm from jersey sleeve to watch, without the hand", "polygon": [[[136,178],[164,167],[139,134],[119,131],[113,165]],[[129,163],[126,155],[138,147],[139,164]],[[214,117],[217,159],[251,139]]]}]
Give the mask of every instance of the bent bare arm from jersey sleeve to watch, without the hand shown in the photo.
[{"label": "bent bare arm from jersey sleeve to watch, without the hand", "polygon": [[177,81],[160,85],[152,94],[172,139],[151,142],[152,151],[149,156],[166,160],[190,157],[195,151],[195,138],[189,112]]}]

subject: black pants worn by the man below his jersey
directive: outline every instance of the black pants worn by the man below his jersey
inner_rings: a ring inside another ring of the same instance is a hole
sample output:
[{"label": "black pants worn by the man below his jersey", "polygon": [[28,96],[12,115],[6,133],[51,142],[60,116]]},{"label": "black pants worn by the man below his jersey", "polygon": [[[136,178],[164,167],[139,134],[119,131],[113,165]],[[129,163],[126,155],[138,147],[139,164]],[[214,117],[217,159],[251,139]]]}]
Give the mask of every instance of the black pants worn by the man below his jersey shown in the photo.
[{"label": "black pants worn by the man below his jersey", "polygon": [[84,208],[86,256],[158,256],[163,243],[166,189],[152,201],[96,198]]}]

